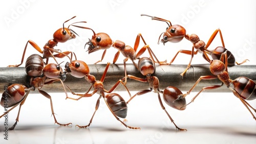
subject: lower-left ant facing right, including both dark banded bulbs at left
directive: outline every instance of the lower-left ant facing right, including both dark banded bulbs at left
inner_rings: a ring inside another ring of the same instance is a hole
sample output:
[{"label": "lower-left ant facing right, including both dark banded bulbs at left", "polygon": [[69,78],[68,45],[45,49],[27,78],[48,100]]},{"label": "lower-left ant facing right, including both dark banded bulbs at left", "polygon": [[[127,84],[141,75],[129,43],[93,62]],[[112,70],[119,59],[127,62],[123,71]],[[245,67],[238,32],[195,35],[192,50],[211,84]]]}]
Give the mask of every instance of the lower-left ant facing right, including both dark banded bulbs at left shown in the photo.
[{"label": "lower-left ant facing right, including both dark banded bulbs at left", "polygon": [[0,102],[1,106],[5,108],[12,107],[8,111],[6,111],[3,115],[1,115],[0,118],[19,105],[16,122],[12,127],[9,128],[9,130],[13,130],[17,125],[17,122],[19,120],[20,108],[25,103],[29,92],[31,90],[34,91],[35,89],[38,89],[39,93],[44,95],[46,98],[50,99],[52,115],[54,117],[55,123],[57,123],[60,126],[68,126],[72,124],[72,123],[60,124],[57,122],[57,119],[55,118],[55,114],[53,111],[51,95],[49,95],[44,90],[41,90],[41,88],[45,84],[51,84],[53,82],[60,81],[63,86],[63,89],[65,90],[66,96],[68,97],[65,86],[62,82],[62,81],[65,81],[66,79],[66,73],[63,73],[62,68],[55,63],[49,63],[46,66],[44,66],[44,61],[42,60],[42,57],[37,54],[31,55],[27,59],[25,67],[26,67],[26,73],[30,77],[30,87],[27,87],[22,84],[12,84],[6,88]]}]

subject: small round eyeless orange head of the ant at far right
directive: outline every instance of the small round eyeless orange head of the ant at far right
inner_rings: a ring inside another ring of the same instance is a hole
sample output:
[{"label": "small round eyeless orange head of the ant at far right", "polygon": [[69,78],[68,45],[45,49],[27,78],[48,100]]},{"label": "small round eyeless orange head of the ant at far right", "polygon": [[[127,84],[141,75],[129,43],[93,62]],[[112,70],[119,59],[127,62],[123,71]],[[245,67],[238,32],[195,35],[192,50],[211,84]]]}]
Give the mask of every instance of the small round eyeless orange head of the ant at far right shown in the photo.
[{"label": "small round eyeless orange head of the ant at far right", "polygon": [[211,74],[218,76],[222,71],[225,70],[225,64],[220,60],[210,61],[210,72]]}]

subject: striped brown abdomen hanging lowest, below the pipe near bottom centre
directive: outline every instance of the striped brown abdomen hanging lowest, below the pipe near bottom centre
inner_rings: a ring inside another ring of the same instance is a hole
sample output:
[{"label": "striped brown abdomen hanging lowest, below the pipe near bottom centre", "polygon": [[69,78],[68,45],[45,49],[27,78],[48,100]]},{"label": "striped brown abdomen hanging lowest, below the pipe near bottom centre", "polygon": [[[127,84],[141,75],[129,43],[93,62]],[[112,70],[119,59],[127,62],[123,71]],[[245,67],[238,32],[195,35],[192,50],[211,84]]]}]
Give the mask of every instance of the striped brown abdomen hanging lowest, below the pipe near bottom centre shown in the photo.
[{"label": "striped brown abdomen hanging lowest, below the pipe near bottom centre", "polygon": [[117,93],[105,95],[106,102],[116,116],[125,118],[127,115],[127,104],[124,99]]}]

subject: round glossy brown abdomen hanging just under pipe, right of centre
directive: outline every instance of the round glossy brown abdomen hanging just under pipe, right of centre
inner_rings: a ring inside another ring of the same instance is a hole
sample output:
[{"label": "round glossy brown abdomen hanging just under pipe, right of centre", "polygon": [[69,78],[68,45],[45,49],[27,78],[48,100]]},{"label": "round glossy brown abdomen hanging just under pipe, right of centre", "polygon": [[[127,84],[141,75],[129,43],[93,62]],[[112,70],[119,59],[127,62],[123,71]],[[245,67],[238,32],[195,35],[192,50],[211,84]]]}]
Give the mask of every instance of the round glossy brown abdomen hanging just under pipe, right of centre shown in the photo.
[{"label": "round glossy brown abdomen hanging just under pipe, right of centre", "polygon": [[164,102],[172,108],[184,110],[186,109],[186,99],[177,100],[181,94],[182,92],[177,87],[168,86],[163,90]]}]

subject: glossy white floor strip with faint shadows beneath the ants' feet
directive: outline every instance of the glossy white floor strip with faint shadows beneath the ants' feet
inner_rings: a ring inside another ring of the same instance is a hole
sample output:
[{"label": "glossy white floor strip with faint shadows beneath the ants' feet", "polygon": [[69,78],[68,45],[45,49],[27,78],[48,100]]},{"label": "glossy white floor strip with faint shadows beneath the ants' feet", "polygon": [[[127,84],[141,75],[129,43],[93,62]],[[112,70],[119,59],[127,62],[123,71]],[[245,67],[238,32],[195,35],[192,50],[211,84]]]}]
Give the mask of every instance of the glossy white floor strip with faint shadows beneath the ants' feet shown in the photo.
[{"label": "glossy white floor strip with faint shadows beneath the ants' feet", "polygon": [[157,126],[141,130],[118,126],[77,129],[61,126],[22,126],[9,132],[9,140],[1,143],[255,143],[252,127],[187,127],[188,131],[161,129]]}]

